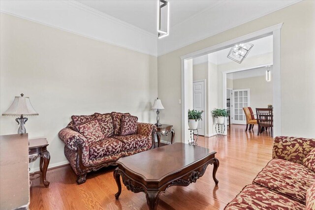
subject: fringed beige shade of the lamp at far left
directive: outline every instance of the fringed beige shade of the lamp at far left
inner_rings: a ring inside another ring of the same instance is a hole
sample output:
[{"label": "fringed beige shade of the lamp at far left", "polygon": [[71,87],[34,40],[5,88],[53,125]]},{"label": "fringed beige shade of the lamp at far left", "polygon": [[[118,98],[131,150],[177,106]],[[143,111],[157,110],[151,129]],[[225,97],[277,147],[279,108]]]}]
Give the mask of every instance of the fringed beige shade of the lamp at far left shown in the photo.
[{"label": "fringed beige shade of the lamp at far left", "polygon": [[6,110],[3,116],[34,116],[38,115],[38,113],[32,107],[31,101],[29,97],[23,97],[23,93],[21,96],[15,96],[12,105]]}]

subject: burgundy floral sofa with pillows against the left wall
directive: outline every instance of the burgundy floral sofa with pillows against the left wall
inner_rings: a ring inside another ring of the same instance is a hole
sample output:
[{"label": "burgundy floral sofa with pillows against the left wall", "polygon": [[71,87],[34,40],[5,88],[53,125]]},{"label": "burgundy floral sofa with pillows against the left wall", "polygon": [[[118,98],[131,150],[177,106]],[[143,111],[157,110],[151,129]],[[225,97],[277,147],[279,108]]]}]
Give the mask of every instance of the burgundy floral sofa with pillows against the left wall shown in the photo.
[{"label": "burgundy floral sofa with pillows against the left wall", "polygon": [[153,147],[156,126],[137,122],[138,118],[129,113],[95,113],[71,119],[58,135],[78,184],[84,183],[91,171],[116,165],[120,157]]}]

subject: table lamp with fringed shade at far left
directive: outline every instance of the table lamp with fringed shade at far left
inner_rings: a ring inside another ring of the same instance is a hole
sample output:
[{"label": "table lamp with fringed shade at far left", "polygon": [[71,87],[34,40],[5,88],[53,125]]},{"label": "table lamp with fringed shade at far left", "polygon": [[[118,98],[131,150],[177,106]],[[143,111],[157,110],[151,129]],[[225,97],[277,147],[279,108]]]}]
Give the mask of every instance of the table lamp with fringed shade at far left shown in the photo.
[{"label": "table lamp with fringed shade at far left", "polygon": [[21,96],[15,96],[11,106],[2,114],[2,116],[20,116],[20,118],[15,119],[15,121],[20,124],[20,127],[18,129],[19,134],[26,133],[24,124],[29,119],[24,118],[24,116],[38,115],[38,113],[32,107],[30,98],[23,97],[23,95],[24,94],[22,93]]}]

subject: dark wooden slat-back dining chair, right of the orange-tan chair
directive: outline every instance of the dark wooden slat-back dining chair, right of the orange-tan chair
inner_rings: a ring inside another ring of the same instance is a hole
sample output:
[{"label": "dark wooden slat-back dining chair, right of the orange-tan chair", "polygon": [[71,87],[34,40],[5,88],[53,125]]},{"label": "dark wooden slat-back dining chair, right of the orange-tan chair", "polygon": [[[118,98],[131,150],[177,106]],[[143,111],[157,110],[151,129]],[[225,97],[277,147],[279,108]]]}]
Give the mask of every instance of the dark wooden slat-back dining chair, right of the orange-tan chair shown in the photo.
[{"label": "dark wooden slat-back dining chair, right of the orange-tan chair", "polygon": [[274,126],[274,116],[272,108],[256,108],[257,122],[258,122],[258,132],[262,133],[265,129],[270,128],[271,135],[273,135],[273,126]]}]

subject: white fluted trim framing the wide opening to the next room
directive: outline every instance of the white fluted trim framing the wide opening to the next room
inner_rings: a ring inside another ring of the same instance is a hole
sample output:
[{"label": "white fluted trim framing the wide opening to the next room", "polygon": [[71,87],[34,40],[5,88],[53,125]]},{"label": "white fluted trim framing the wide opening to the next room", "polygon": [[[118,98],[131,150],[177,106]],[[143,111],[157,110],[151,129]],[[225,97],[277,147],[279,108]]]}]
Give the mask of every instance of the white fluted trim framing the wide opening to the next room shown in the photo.
[{"label": "white fluted trim framing the wide opening to the next room", "polygon": [[[237,38],[222,42],[220,44],[189,53],[181,56],[182,66],[182,141],[188,143],[189,133],[186,132],[188,128],[188,116],[186,114],[188,110],[188,103],[186,103],[186,94],[189,92],[188,84],[185,84],[185,80],[189,77],[189,61],[193,58],[204,56],[216,51],[232,47],[235,43],[249,42],[258,38],[263,38],[269,35],[273,35],[273,89],[274,89],[274,136],[281,135],[281,28],[284,23],[279,23],[262,30],[257,30],[252,33],[239,36]],[[224,81],[226,86],[226,80]],[[225,89],[222,89],[225,90]],[[226,91],[223,92],[223,98],[226,98]],[[222,108],[226,108],[225,103],[222,103]],[[226,124],[225,124],[226,126]],[[226,131],[224,132],[226,135]]]}]

